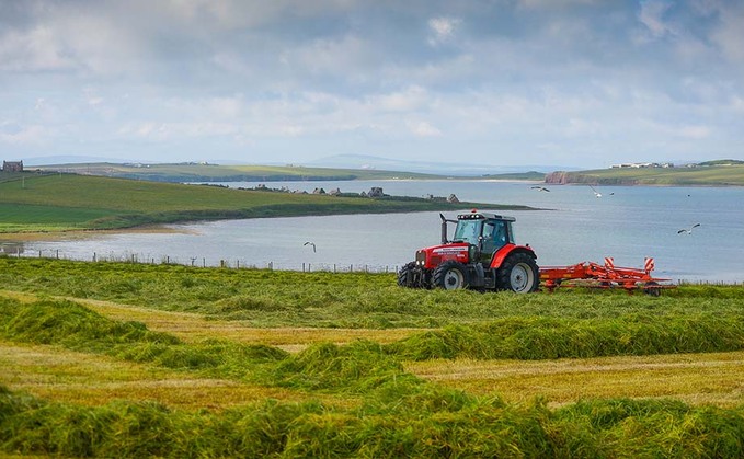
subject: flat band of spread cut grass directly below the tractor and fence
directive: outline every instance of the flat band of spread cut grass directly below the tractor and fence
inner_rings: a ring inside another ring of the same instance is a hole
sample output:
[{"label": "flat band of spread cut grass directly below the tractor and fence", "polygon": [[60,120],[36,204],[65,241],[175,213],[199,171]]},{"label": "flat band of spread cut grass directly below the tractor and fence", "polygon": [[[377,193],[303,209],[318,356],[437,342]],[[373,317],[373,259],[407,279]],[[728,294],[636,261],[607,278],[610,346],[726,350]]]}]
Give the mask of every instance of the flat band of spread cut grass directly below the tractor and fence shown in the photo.
[{"label": "flat band of spread cut grass directly below the tractor and fence", "polygon": [[411,290],[393,274],[297,273],[0,256],[14,291],[198,313],[254,328],[432,329],[500,318],[613,319],[741,313],[739,286],[680,286],[659,298],[623,291],[554,294]]}]

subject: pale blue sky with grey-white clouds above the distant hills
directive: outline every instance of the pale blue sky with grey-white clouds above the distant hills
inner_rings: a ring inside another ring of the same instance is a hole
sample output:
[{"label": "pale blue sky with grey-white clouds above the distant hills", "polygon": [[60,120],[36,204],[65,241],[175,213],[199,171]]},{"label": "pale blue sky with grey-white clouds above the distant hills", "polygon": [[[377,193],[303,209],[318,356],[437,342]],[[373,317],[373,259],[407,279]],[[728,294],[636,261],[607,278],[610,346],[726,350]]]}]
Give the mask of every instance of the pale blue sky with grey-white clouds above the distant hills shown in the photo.
[{"label": "pale blue sky with grey-white clouds above the distant hills", "polygon": [[0,160],[744,158],[741,0],[0,0]]}]

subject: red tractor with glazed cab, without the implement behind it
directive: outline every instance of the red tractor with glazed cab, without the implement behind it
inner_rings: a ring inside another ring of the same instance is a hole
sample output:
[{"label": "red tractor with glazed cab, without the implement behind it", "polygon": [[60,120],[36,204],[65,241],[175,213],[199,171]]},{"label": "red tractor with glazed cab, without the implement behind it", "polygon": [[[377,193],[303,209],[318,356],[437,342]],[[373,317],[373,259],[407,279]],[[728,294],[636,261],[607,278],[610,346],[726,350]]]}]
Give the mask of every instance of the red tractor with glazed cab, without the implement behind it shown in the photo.
[{"label": "red tractor with glazed cab, without the implement behind it", "polygon": [[[537,255],[529,245],[517,245],[514,217],[472,210],[457,220],[442,218],[442,244],[421,249],[414,262],[398,272],[398,285],[409,288],[472,288],[537,290],[540,273]],[[453,240],[447,223],[457,223]]]}]

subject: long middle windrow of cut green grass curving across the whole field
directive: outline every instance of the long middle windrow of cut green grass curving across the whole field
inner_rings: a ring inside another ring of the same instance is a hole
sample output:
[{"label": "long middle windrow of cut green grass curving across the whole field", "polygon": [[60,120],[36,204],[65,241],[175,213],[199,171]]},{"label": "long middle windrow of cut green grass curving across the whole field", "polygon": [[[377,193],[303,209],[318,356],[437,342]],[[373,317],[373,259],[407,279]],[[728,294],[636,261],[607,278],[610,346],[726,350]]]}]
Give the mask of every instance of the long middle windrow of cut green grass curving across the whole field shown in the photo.
[{"label": "long middle windrow of cut green grass curving across the whole field", "polygon": [[[390,344],[321,343],[297,354],[224,338],[186,343],[173,334],[150,331],[141,322],[115,321],[66,300],[27,302],[0,297],[0,318],[4,323],[0,337],[12,342],[57,345],[127,362],[195,370],[207,377],[352,392],[358,390],[359,378],[400,372],[398,363],[402,360],[538,360],[744,349],[741,315],[699,314],[684,320],[646,317],[642,321],[502,319],[414,333]],[[710,333],[713,328],[716,332]],[[333,370],[330,375],[324,371],[329,368]],[[369,383],[367,380],[362,386]]]}]

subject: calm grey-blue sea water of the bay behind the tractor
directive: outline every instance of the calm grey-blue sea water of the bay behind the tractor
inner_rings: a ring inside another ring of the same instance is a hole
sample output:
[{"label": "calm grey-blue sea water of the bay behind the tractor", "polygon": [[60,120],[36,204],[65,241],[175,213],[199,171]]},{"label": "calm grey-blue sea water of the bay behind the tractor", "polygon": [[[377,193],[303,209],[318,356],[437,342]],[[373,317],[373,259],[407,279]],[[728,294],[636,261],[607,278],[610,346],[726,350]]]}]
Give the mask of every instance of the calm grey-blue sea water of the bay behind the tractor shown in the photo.
[{"label": "calm grey-blue sea water of the bay behind the tractor", "polygon": [[[226,183],[254,187],[257,183]],[[517,242],[540,266],[584,261],[641,267],[653,257],[657,277],[744,282],[744,188],[543,185],[499,181],[275,182],[268,187],[312,192],[340,188],[462,202],[525,205],[540,210],[493,210],[516,217]],[[595,191],[600,193],[596,197]],[[462,211],[469,211],[463,206]],[[479,210],[492,210],[484,206]],[[457,213],[444,213],[454,218]],[[171,225],[172,233],[118,233],[83,240],[28,242],[25,256],[172,262],[276,269],[394,271],[417,249],[439,243],[439,213],[222,220]],[[695,223],[700,223],[689,233]]]}]

